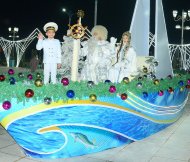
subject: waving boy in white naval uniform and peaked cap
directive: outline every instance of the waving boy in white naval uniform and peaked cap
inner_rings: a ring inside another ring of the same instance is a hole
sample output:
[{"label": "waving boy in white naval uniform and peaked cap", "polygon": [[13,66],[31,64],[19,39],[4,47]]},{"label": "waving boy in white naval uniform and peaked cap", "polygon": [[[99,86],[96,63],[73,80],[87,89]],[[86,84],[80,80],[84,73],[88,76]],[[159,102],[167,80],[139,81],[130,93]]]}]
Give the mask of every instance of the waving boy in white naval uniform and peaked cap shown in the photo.
[{"label": "waving boy in white naval uniform and peaked cap", "polygon": [[36,49],[43,49],[43,63],[44,63],[44,84],[51,82],[56,83],[57,68],[61,68],[61,44],[58,39],[54,39],[55,32],[58,26],[54,22],[49,22],[44,25],[46,32],[46,39],[43,39],[42,33],[38,35],[38,42]]}]

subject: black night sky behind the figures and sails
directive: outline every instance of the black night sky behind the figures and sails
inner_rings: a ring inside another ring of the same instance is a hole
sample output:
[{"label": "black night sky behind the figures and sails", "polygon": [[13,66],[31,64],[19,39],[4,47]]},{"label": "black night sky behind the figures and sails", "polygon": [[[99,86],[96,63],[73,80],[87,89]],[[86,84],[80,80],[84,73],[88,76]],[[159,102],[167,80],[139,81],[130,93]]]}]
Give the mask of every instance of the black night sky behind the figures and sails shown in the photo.
[{"label": "black night sky behind the figures and sails", "polygon": [[[98,0],[97,24],[104,25],[108,29],[109,37],[118,38],[129,30],[136,0]],[[43,31],[43,26],[49,21],[58,24],[59,30],[56,38],[62,40],[68,29],[68,15],[62,12],[62,8],[72,12],[84,10],[85,17],[82,24],[88,29],[94,25],[94,0],[17,0],[4,1],[0,9],[0,36],[8,38],[8,27],[19,27],[20,38],[27,37],[35,28]],[[154,33],[154,4],[151,0],[151,32]],[[182,9],[188,10],[189,0],[163,0],[166,27],[168,30],[169,43],[180,44],[181,30],[175,29],[176,24],[172,17],[172,10],[176,9],[181,14]],[[72,17],[72,24],[77,20]],[[190,26],[190,22],[185,22]],[[37,40],[36,40],[37,41]],[[184,31],[184,42],[190,42],[190,31]]]}]

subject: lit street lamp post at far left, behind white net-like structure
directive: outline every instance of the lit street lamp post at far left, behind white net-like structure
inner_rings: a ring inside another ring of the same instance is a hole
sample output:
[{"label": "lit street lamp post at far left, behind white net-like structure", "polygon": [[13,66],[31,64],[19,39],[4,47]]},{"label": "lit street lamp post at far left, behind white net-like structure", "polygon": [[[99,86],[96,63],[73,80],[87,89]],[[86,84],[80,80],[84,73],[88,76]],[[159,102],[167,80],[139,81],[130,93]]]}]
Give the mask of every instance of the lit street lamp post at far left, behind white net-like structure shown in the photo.
[{"label": "lit street lamp post at far left, behind white net-like structure", "polygon": [[14,67],[14,65],[15,65],[14,41],[15,41],[15,38],[19,38],[19,36],[17,35],[17,33],[19,31],[19,28],[17,28],[17,27],[13,27],[13,28],[9,27],[8,31],[10,33],[9,38],[13,39],[12,57],[10,58],[10,65],[9,66]]}]

